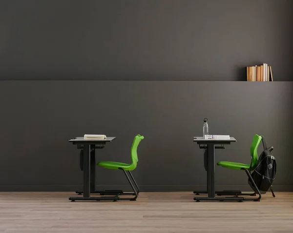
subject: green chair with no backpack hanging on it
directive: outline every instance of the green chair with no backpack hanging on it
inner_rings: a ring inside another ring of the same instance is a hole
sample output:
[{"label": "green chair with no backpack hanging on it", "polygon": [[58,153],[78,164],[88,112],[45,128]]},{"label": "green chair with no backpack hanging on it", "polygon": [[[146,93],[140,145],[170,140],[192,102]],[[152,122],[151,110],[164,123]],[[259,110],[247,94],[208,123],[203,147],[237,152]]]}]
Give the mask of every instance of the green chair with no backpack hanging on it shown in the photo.
[{"label": "green chair with no backpack hanging on it", "polygon": [[[130,201],[135,201],[138,194],[139,194],[139,188],[138,188],[138,185],[137,183],[135,182],[134,178],[133,178],[133,175],[131,174],[130,171],[133,171],[136,166],[137,166],[137,162],[138,162],[138,156],[137,156],[137,147],[140,143],[141,140],[144,139],[144,136],[141,136],[141,135],[137,135],[134,137],[134,140],[133,140],[133,143],[132,143],[132,147],[131,147],[131,160],[132,160],[132,163],[131,164],[127,164],[127,163],[120,163],[120,162],[111,162],[111,161],[103,161],[103,162],[99,162],[97,165],[98,166],[101,166],[103,168],[106,168],[106,169],[112,169],[112,170],[122,170],[124,172],[124,174],[126,175],[126,178],[133,190],[134,193],[119,193],[117,194],[117,196],[119,195],[134,195],[135,197],[131,197],[131,198],[121,198],[119,197],[118,200],[130,200]],[[128,171],[131,179],[133,180],[136,188],[137,188],[137,191],[135,190],[135,188],[133,187],[133,184],[131,183],[126,171]]]}]

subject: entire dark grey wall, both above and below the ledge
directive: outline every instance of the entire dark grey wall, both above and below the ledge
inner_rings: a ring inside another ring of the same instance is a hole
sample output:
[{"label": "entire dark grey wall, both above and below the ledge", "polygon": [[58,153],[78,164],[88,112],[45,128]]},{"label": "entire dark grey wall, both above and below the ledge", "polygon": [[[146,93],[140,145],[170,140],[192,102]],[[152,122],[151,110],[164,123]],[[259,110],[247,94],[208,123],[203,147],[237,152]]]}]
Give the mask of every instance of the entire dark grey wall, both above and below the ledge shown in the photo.
[{"label": "entire dark grey wall, both above and below the ledge", "polygon": [[[0,191],[81,188],[67,141],[85,133],[117,136],[97,157],[125,162],[133,137],[146,136],[134,173],[142,190],[203,189],[192,136],[204,117],[238,140],[217,160],[249,163],[252,136],[265,135],[275,189],[293,191],[292,82],[195,81],[246,80],[245,67],[263,62],[292,81],[292,22],[292,0],[1,0]],[[248,189],[245,174],[216,172],[217,188]],[[113,171],[97,178],[126,184]]]}]

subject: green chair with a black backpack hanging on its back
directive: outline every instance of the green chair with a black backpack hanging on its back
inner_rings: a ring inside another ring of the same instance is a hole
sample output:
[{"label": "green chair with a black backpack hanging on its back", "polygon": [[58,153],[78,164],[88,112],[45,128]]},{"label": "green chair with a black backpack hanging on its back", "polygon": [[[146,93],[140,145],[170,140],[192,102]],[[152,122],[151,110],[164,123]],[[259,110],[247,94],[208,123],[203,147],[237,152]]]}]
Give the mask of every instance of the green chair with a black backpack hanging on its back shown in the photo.
[{"label": "green chair with a black backpack hanging on its back", "polygon": [[[252,185],[255,187],[258,197],[257,198],[244,198],[244,200],[253,200],[253,201],[259,201],[261,198],[261,193],[258,190],[257,186],[255,185],[250,171],[253,171],[257,165],[258,162],[258,156],[257,156],[257,148],[260,144],[262,140],[261,136],[258,135],[254,135],[253,136],[253,140],[251,143],[251,149],[250,149],[250,153],[251,153],[251,164],[245,164],[245,163],[236,163],[236,162],[229,162],[229,161],[220,161],[217,163],[218,166],[222,166],[224,168],[228,168],[228,169],[234,169],[234,170],[244,170],[246,172],[246,174],[248,175],[249,179],[251,180]],[[272,191],[272,190],[271,190]],[[239,195],[256,195],[256,193],[253,194],[242,194],[242,192],[240,192]],[[237,194],[236,194],[237,196]]]}]

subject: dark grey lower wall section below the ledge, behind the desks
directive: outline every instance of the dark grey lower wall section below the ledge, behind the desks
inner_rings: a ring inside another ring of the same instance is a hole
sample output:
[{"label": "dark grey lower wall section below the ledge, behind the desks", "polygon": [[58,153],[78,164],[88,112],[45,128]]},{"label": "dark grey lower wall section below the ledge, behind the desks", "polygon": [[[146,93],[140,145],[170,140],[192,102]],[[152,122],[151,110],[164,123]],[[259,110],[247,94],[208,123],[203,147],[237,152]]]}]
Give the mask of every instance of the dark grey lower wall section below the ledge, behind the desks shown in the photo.
[{"label": "dark grey lower wall section below the ledge, behind the desks", "polygon": [[[203,151],[192,142],[204,117],[210,133],[237,139],[216,161],[249,163],[253,135],[264,135],[277,159],[275,189],[293,191],[292,90],[293,82],[0,81],[0,191],[74,191],[83,179],[70,138],[117,136],[97,159],[130,162],[138,133],[145,140],[134,175],[142,190],[205,189]],[[97,184],[127,181],[98,168]],[[244,172],[221,167],[216,184],[249,190]]]}]

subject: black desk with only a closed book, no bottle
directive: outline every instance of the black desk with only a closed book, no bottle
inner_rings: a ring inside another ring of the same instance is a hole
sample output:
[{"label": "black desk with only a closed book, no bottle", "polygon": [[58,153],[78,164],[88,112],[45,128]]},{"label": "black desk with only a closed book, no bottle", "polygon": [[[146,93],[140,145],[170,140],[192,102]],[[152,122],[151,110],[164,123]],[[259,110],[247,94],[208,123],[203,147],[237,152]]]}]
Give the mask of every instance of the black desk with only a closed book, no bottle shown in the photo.
[{"label": "black desk with only a closed book, no bottle", "polygon": [[84,190],[76,192],[84,196],[69,197],[69,200],[115,200],[118,197],[90,197],[90,194],[116,194],[118,191],[110,193],[106,191],[95,191],[96,175],[96,149],[103,149],[107,142],[111,142],[116,137],[107,137],[105,139],[84,139],[84,137],[75,137],[69,142],[77,145],[78,149],[84,150]]}]

